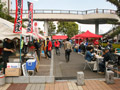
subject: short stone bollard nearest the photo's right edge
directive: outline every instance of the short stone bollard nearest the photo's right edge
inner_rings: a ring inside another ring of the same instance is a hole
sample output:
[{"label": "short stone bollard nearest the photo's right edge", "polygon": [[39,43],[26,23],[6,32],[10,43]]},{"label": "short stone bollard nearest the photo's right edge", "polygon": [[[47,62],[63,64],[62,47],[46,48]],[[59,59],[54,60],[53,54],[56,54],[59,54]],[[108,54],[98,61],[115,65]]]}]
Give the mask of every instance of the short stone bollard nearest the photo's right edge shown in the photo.
[{"label": "short stone bollard nearest the photo's right edge", "polygon": [[107,84],[113,84],[114,82],[114,72],[113,71],[106,71],[106,77],[105,77]]}]

